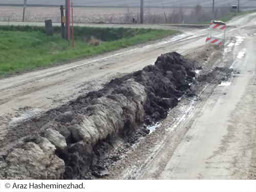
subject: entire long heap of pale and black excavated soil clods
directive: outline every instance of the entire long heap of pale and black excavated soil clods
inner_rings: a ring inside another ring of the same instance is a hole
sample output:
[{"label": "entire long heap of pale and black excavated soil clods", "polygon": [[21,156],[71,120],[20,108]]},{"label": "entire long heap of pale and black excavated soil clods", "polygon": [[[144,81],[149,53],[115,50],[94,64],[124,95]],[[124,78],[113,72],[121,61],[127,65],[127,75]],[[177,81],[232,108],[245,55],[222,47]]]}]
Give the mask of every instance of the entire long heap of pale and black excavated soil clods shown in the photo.
[{"label": "entire long heap of pale and black excavated soil clods", "polygon": [[[195,76],[191,61],[176,52],[167,53],[154,66],[113,79],[99,91],[23,122],[19,127],[27,133],[15,134],[15,127],[11,133],[20,141],[0,153],[0,179],[108,175],[104,159],[115,142],[135,142],[134,134],[145,129],[144,123],[166,118],[178,98],[193,95],[190,84]],[[108,162],[117,160],[118,156],[110,157]]]}]

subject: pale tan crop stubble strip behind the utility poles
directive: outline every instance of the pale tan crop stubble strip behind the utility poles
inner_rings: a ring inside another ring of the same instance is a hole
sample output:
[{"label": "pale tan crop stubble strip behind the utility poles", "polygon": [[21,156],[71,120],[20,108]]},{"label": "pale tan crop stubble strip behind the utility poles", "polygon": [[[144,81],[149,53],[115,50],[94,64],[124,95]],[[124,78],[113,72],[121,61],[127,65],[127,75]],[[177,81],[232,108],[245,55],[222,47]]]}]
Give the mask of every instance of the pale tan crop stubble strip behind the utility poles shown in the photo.
[{"label": "pale tan crop stubble strip behind the utility poles", "polygon": [[[169,14],[173,10],[165,9]],[[145,15],[157,14],[163,16],[163,9],[145,8]],[[184,10],[190,12],[190,10]],[[75,7],[74,22],[75,23],[131,23],[132,18],[139,17],[139,8],[97,8],[97,7]],[[0,22],[20,22],[23,17],[22,7],[6,7],[0,6]],[[59,7],[28,7],[26,9],[26,22],[44,22],[44,20],[52,19],[53,22],[60,22]]]}]

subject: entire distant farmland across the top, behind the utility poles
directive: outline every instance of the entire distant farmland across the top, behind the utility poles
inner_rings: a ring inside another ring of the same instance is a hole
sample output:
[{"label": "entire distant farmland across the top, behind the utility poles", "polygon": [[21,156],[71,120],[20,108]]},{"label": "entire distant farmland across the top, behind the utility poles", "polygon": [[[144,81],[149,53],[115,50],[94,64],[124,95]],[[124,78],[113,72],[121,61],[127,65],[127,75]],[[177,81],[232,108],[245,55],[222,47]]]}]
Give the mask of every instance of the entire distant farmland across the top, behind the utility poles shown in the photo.
[{"label": "entire distant farmland across the top, behind the utility poles", "polygon": [[[0,0],[0,22],[22,21],[23,2],[24,0]],[[76,6],[74,7],[75,23],[129,24],[132,23],[133,18],[138,22],[140,19],[140,0],[73,0],[73,2]],[[59,23],[59,5],[64,5],[65,0],[27,0],[27,3],[33,6],[28,6],[26,9],[26,22],[44,22],[44,20],[52,19],[53,22]],[[166,23],[166,20],[168,20],[167,23],[208,23],[208,20],[212,19],[212,17],[221,18],[227,15],[230,12],[231,5],[237,3],[238,0],[215,0],[215,10],[218,13],[213,16],[211,15],[212,0],[144,0],[144,23],[163,24]],[[197,4],[202,6],[203,13],[198,13],[199,15],[195,16],[192,12],[198,12],[195,11]],[[39,5],[48,5],[50,7]],[[241,10],[255,10],[256,1],[240,0],[240,5]],[[167,19],[165,19],[164,12]]]}]

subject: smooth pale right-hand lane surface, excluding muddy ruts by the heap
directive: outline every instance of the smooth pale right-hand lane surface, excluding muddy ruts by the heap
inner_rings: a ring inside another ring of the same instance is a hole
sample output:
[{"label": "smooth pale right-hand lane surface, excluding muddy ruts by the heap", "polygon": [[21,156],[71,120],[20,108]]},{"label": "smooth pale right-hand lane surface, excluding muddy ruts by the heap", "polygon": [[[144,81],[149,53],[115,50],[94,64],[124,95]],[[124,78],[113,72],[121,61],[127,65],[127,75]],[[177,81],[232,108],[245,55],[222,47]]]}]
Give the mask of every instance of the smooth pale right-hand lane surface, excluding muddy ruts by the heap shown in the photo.
[{"label": "smooth pale right-hand lane surface, excluding muddy ruts by the heap", "polygon": [[255,17],[243,19],[230,22],[242,28],[232,31],[237,39],[235,47],[232,55],[224,55],[224,59],[233,56],[233,62],[226,65],[240,74],[231,79],[230,86],[218,86],[182,125],[190,126],[186,139],[178,145],[159,179],[255,177]]}]

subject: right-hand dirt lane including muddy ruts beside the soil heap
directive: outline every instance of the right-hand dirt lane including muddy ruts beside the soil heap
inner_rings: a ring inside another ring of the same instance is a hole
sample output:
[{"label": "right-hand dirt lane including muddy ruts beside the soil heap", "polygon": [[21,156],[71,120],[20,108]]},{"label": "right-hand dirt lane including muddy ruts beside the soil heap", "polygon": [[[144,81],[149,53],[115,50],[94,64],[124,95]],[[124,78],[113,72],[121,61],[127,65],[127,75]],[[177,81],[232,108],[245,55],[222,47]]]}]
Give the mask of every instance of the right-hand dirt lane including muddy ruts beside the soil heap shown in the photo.
[{"label": "right-hand dirt lane including muddy ruts beside the soil heap", "polygon": [[210,62],[237,72],[226,82],[207,84],[197,98],[181,101],[118,163],[122,172],[114,168],[111,178],[255,179],[255,16],[229,23],[231,41]]}]

